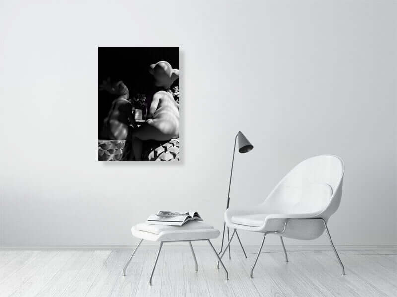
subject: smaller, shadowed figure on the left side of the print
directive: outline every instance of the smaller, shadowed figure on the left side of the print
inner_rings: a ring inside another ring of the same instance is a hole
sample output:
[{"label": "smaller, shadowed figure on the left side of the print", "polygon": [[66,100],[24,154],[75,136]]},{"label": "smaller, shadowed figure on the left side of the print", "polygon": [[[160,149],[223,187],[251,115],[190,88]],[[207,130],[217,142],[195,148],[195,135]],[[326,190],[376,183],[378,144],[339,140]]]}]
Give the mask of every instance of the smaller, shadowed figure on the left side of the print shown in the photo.
[{"label": "smaller, shadowed figure on the left side of the print", "polygon": [[103,120],[100,138],[111,140],[126,140],[131,138],[131,128],[135,126],[132,115],[132,105],[127,86],[122,82],[111,83],[110,79],[103,81],[99,87],[116,96],[112,101],[107,117]]}]

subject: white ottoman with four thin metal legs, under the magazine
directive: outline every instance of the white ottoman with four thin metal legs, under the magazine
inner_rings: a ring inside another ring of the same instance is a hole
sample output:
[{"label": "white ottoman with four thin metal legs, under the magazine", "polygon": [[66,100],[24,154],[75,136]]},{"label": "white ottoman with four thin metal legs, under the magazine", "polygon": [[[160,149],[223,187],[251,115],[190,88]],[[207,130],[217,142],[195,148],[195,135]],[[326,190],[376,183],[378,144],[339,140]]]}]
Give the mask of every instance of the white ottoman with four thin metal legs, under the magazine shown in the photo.
[{"label": "white ottoman with four thin metal legs, under the magazine", "polygon": [[167,226],[167,225],[149,225],[147,223],[137,224],[132,226],[131,228],[132,235],[140,238],[138,245],[136,246],[135,250],[133,251],[130,259],[127,261],[126,265],[123,268],[123,275],[126,275],[126,269],[128,264],[135,254],[136,250],[142,243],[142,241],[149,240],[149,241],[158,241],[160,242],[160,247],[157,252],[156,260],[154,262],[154,266],[152,269],[152,273],[150,275],[149,285],[152,284],[152,278],[154,269],[156,268],[157,260],[160,255],[161,247],[163,247],[164,242],[182,242],[187,241],[189,242],[190,249],[192,251],[193,260],[195,261],[195,271],[197,271],[197,261],[195,252],[193,251],[192,241],[199,241],[199,240],[206,240],[208,241],[209,245],[212,247],[218,261],[222,264],[223,269],[226,272],[226,280],[229,279],[229,273],[226,270],[225,265],[223,265],[222,260],[219,258],[218,253],[216,252],[215,248],[212,246],[210,241],[211,238],[217,238],[220,234],[218,229],[214,229],[213,226],[199,221],[189,221],[185,223],[183,226]]}]

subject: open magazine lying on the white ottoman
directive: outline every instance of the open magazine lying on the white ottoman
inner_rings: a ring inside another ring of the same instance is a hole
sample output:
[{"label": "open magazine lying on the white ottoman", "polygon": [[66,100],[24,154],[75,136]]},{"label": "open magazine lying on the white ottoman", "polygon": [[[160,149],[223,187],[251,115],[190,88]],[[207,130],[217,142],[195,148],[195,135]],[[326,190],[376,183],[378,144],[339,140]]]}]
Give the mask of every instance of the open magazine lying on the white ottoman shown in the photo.
[{"label": "open magazine lying on the white ottoman", "polygon": [[171,225],[182,226],[188,221],[202,221],[197,211],[168,211],[160,210],[157,214],[152,214],[146,223],[150,225]]}]

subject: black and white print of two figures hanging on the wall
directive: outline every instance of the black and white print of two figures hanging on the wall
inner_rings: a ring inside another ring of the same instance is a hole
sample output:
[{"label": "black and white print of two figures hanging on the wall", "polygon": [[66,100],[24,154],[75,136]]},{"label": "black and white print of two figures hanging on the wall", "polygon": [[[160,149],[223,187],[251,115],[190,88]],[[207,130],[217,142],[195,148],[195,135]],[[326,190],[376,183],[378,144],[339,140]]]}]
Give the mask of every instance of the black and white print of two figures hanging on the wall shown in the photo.
[{"label": "black and white print of two figures hanging on the wall", "polygon": [[98,160],[179,161],[179,47],[99,47],[98,76]]}]

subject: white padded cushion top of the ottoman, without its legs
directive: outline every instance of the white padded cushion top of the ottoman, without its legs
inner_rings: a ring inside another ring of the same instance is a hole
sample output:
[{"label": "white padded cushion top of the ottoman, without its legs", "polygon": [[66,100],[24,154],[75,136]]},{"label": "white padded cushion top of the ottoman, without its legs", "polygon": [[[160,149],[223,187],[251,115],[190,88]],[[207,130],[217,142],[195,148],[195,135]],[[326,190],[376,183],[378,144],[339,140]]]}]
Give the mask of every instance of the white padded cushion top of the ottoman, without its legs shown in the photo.
[{"label": "white padded cushion top of the ottoman, without its legs", "polygon": [[150,241],[183,241],[217,238],[218,229],[201,221],[189,221],[182,226],[140,223],[131,228],[132,235]]}]

